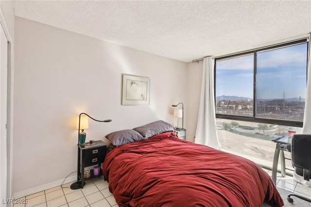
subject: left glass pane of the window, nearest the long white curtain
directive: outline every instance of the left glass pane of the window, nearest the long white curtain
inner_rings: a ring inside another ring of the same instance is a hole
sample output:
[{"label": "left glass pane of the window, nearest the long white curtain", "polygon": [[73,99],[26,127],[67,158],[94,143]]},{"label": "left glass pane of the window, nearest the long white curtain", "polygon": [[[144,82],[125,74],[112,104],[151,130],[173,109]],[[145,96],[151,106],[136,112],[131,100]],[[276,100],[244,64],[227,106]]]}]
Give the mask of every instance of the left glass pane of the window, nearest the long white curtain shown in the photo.
[{"label": "left glass pane of the window, nearest the long white curtain", "polygon": [[215,62],[216,113],[253,117],[254,54]]}]

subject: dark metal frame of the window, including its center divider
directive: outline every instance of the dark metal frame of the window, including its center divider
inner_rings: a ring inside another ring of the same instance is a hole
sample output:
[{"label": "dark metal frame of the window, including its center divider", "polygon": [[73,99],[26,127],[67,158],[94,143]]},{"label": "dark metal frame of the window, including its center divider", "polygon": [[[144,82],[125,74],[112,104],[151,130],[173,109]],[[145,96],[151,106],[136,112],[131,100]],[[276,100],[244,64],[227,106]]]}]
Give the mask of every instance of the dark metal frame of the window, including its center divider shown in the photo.
[{"label": "dark metal frame of the window, including its center divider", "polygon": [[[256,117],[256,74],[257,74],[257,53],[266,51],[266,50],[273,50],[273,49],[278,49],[282,47],[287,47],[287,46],[294,46],[302,43],[308,43],[308,38],[303,38],[299,40],[294,40],[291,42],[287,43],[281,43],[273,46],[267,46],[263,48],[258,48],[250,51],[245,51],[245,52],[240,52],[240,53],[235,53],[235,54],[230,54],[230,55],[225,55],[221,57],[216,57],[215,58],[215,64],[214,64],[214,97],[215,97],[215,108],[217,107],[217,99],[216,99],[216,65],[217,65],[217,60],[222,60],[222,59],[227,59],[227,58],[234,58],[242,55],[249,55],[253,54],[254,56],[254,76],[253,76],[253,116],[239,116],[239,115],[225,115],[225,114],[216,114],[217,119],[228,119],[228,120],[237,120],[237,121],[250,121],[250,122],[259,122],[259,123],[268,123],[268,124],[279,124],[279,125],[286,125],[286,126],[294,126],[294,127],[302,127],[303,126],[303,121],[291,121],[291,120],[277,120],[277,119],[269,119],[269,118],[258,118]],[[308,77],[308,53],[309,53],[309,44],[307,44],[307,69],[306,69],[306,78]],[[306,80],[308,81],[308,80]],[[307,87],[307,86],[306,86]]]}]

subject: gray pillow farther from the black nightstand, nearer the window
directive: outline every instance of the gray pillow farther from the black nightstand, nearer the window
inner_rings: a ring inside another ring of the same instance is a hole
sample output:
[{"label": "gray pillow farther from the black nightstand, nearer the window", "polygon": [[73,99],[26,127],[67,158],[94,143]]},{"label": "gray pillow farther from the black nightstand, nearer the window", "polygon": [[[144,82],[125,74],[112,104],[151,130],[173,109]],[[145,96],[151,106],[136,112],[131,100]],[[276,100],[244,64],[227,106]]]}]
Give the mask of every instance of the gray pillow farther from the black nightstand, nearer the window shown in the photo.
[{"label": "gray pillow farther from the black nightstand, nearer the window", "polygon": [[136,127],[134,130],[139,132],[144,138],[150,138],[157,134],[173,131],[174,127],[170,123],[160,120]]}]

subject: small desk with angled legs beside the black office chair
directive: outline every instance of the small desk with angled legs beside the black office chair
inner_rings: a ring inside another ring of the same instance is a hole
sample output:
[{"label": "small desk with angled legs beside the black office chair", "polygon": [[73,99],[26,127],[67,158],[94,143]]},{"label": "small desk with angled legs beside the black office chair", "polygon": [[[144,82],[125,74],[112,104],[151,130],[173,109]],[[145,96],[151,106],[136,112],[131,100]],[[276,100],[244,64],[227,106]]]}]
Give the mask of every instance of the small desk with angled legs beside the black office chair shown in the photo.
[{"label": "small desk with angled legs beside the black office chair", "polygon": [[272,141],[276,142],[276,150],[274,152],[273,165],[272,165],[272,181],[276,185],[278,155],[280,155],[280,159],[281,159],[281,175],[282,175],[282,177],[285,177],[284,150],[288,151],[286,149],[286,145],[292,143],[292,137],[280,136],[280,137],[277,137],[276,139],[274,139]]}]

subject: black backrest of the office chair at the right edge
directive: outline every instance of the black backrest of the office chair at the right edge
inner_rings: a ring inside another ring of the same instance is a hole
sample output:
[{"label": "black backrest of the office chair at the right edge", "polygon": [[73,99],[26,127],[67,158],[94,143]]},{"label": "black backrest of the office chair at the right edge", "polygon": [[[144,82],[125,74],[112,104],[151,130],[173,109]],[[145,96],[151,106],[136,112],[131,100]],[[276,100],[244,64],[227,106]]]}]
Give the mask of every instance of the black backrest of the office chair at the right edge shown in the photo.
[{"label": "black backrest of the office chair at the right edge", "polygon": [[309,180],[311,175],[311,135],[294,135],[291,154],[293,166],[303,169],[304,179]]}]

